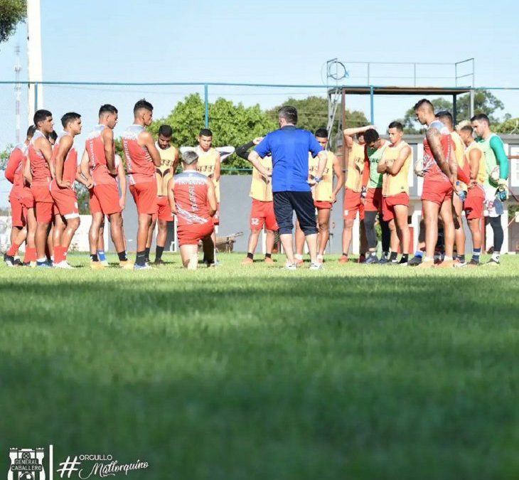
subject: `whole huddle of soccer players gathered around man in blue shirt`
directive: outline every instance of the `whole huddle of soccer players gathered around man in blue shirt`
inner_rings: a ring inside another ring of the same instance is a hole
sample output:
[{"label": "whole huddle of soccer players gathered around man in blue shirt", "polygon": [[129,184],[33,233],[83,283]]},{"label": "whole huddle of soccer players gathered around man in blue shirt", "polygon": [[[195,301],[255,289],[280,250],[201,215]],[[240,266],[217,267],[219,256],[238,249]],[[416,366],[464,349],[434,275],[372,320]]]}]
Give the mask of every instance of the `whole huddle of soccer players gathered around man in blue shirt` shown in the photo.
[{"label": "whole huddle of soccer players gathered around man in blue shirt", "polygon": [[[344,130],[343,166],[336,155],[326,150],[326,129],[311,134],[296,128],[297,112],[293,107],[279,111],[279,130],[237,147],[237,155],[253,166],[251,232],[243,263],[254,261],[260,233],[265,228],[265,262],[273,262],[274,239],[279,233],[289,270],[303,264],[305,241],[311,269],[322,268],[331,208],[344,188],[343,255],[339,262],[348,262],[353,223],[359,215],[365,234],[361,261],[366,264],[433,267],[439,248],[438,230],[442,228],[444,245],[437,266],[477,266],[484,212],[493,229],[494,241],[488,265],[499,265],[503,243],[500,217],[503,201],[508,198],[508,158],[501,139],[491,132],[484,114],[474,116],[456,130],[451,114],[434,114],[428,100],[420,100],[414,110],[418,121],[427,126],[423,161],[416,164],[412,148],[403,139],[402,124],[392,122],[387,129],[389,141],[382,139],[373,126]],[[113,105],[100,108],[98,124],[88,134],[79,162],[74,138],[82,129],[80,114],[63,115],[63,131],[57,137],[52,114],[48,110],[34,114],[34,125],[28,129],[26,142],[14,148],[6,168],[6,178],[13,183],[9,195],[11,247],[4,255],[6,265],[73,268],[67,261],[67,252],[80,225],[75,182],[90,191],[92,269],[107,266],[103,242],[105,218],[110,224],[120,267],[135,270],[150,267],[149,252],[156,224],[154,264],[164,264],[161,257],[173,215],[176,215],[183,266],[197,267],[200,242],[203,262],[215,265],[222,158],[212,145],[213,134],[209,129],[200,130],[198,146],[183,148],[180,160],[178,150],[171,145],[171,127],[162,125],[157,139],[146,130],[152,117],[153,106],[139,100],[134,106],[134,124],[122,135],[124,166],[115,152],[113,129],[118,112]],[[180,161],[182,170],[176,174]],[[421,224],[424,242],[409,259],[409,172],[413,166],[414,172],[424,178]],[[127,256],[122,216],[127,186],[138,215],[134,262]],[[294,211],[295,253],[291,235]],[[466,262],[464,255],[462,211],[472,237],[470,262]],[[382,230],[380,258],[375,230],[377,216]],[[23,242],[26,248],[21,262],[17,254]]]}]

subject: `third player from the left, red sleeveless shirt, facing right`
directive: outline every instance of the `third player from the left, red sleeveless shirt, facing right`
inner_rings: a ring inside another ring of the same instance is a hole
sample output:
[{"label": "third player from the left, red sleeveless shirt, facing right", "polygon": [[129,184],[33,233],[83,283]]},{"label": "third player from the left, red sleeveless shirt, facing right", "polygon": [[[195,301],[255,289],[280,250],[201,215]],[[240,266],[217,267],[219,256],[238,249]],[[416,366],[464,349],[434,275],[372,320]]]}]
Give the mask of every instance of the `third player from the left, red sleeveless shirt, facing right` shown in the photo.
[{"label": "third player from the left, red sleeveless shirt, facing right", "polygon": [[[68,112],[61,117],[63,132],[56,139],[53,149],[54,178],[50,182],[50,196],[58,209],[56,217],[60,217],[65,229],[54,238],[53,266],[57,268],[73,268],[67,262],[67,251],[72,238],[80,226],[80,212],[74,182],[85,182],[77,175],[77,151],[74,148],[74,137],[81,133],[81,115]],[[56,224],[55,229],[58,230]]]}]

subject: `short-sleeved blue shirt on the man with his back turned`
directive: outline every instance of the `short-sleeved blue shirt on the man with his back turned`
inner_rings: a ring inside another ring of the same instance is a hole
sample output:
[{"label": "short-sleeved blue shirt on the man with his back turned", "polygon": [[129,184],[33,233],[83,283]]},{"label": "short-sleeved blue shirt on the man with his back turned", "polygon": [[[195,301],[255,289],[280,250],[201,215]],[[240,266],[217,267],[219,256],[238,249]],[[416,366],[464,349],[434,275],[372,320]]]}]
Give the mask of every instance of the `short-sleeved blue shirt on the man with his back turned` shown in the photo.
[{"label": "short-sleeved blue shirt on the man with his back turned", "polygon": [[294,125],[267,134],[255,151],[262,158],[272,154],[272,191],[311,191],[308,181],[308,152],[316,156],[323,148],[314,134]]}]

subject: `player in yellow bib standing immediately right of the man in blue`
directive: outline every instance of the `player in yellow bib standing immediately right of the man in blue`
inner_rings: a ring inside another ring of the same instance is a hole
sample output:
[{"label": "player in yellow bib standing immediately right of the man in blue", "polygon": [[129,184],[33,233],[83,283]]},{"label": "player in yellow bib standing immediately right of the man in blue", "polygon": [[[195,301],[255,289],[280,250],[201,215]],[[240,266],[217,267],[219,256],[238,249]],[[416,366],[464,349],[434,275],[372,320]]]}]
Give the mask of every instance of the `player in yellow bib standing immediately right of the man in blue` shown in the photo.
[{"label": "player in yellow bib standing immediately right of the man in blue", "polygon": [[[317,129],[315,133],[317,142],[326,150],[328,144],[328,132],[326,129]],[[333,203],[337,201],[337,195],[343,188],[344,184],[344,172],[341,166],[341,162],[331,152],[326,151],[327,160],[326,167],[323,171],[323,178],[312,188],[312,194],[314,196],[314,206],[317,209],[317,225],[319,227],[319,245],[317,248],[317,261],[323,263],[324,252],[326,251],[326,245],[330,238],[330,214]],[[319,169],[319,157],[314,157],[309,154],[309,178],[312,181],[317,175],[317,169]],[[337,183],[333,188],[333,175],[337,177]],[[301,265],[303,263],[303,248],[304,248],[304,233],[299,227],[299,222],[296,223],[296,264]]]}]

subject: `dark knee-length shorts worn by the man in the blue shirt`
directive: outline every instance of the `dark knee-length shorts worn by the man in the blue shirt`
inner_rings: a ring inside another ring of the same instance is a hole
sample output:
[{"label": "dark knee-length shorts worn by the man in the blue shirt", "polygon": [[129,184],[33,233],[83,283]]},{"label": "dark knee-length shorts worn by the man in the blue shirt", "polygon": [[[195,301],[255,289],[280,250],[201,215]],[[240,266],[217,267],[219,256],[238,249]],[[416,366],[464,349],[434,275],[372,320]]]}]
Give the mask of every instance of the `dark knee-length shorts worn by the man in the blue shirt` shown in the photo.
[{"label": "dark knee-length shorts worn by the man in the blue shirt", "polygon": [[274,192],[272,195],[280,235],[292,233],[294,212],[305,235],[317,233],[316,210],[311,192],[283,191]]}]

